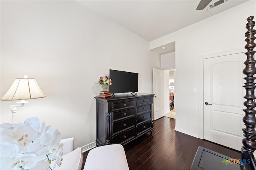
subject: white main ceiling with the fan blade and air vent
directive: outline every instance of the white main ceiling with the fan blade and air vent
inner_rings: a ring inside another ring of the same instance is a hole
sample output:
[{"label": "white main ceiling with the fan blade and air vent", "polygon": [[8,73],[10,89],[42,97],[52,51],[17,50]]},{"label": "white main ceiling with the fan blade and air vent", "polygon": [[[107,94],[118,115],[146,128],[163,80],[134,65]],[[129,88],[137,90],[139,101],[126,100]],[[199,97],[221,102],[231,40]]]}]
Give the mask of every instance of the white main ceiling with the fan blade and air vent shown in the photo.
[{"label": "white main ceiling with the fan blade and air vent", "polygon": [[78,2],[145,40],[152,41],[242,4],[246,0],[230,0],[210,11],[207,7],[204,10],[196,10],[200,0],[78,0]]}]

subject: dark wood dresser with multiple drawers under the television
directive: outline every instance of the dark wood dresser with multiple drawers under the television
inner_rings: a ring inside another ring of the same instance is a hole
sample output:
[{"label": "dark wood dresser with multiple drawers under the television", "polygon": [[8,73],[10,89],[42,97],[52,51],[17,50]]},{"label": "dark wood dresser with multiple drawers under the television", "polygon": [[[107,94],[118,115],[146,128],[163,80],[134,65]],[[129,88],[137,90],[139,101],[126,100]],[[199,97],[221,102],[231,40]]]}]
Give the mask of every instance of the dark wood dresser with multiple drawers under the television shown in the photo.
[{"label": "dark wood dresser with multiple drawers under the television", "polygon": [[96,145],[128,144],[152,132],[154,94],[115,95],[96,99]]}]

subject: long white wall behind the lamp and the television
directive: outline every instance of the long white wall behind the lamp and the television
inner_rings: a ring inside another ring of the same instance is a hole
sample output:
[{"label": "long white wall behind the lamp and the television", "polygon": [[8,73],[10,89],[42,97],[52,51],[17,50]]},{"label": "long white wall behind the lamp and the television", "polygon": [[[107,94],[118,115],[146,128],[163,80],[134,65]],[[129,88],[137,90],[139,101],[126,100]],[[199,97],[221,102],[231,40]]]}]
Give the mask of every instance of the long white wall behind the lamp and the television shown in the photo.
[{"label": "long white wall behind the lamp and the television", "polygon": [[[46,95],[18,108],[16,122],[39,117],[75,147],[96,140],[96,83],[109,69],[139,73],[139,93],[152,93],[160,57],[149,43],[76,1],[1,1],[1,97],[16,77],[36,78]],[[11,122],[1,101],[1,123]]]}]

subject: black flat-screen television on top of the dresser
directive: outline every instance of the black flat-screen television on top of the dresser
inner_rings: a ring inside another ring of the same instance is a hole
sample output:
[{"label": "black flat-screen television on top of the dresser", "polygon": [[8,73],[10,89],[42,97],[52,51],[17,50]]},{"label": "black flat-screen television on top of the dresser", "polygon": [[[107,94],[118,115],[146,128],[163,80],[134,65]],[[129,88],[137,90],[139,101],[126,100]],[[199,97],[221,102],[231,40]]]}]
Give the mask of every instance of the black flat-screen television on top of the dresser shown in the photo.
[{"label": "black flat-screen television on top of the dresser", "polygon": [[112,85],[109,86],[110,93],[128,93],[138,91],[138,73],[126,71],[109,70]]}]

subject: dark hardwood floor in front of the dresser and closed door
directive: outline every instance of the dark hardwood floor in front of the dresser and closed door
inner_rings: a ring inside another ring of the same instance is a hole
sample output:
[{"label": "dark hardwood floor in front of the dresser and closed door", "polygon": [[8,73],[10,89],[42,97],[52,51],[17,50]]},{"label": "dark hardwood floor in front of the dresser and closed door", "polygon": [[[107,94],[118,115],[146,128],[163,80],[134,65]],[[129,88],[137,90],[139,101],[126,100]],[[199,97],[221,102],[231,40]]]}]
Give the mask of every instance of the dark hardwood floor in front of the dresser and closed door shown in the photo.
[{"label": "dark hardwood floor in front of the dresser and closed door", "polygon": [[[241,157],[238,151],[177,132],[174,127],[175,119],[162,117],[154,121],[152,134],[124,146],[130,170],[189,170],[198,146],[234,159]],[[83,153],[83,167],[87,154]]]}]

